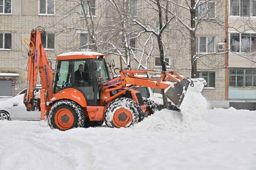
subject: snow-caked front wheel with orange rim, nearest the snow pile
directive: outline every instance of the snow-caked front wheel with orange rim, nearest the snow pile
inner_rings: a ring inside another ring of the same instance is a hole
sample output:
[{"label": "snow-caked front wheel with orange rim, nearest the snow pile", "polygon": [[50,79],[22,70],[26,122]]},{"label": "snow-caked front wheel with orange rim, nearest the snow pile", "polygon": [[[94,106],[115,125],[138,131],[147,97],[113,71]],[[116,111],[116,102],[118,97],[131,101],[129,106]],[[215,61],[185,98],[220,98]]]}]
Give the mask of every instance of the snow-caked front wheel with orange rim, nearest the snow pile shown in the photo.
[{"label": "snow-caked front wheel with orange rim, nearest the snow pile", "polygon": [[[119,109],[123,109],[125,112],[119,112]],[[115,119],[117,116],[118,119],[120,118],[121,120]],[[141,120],[142,110],[140,106],[130,98],[121,97],[114,99],[109,103],[105,111],[105,123],[107,127],[129,127],[140,122]]]}]

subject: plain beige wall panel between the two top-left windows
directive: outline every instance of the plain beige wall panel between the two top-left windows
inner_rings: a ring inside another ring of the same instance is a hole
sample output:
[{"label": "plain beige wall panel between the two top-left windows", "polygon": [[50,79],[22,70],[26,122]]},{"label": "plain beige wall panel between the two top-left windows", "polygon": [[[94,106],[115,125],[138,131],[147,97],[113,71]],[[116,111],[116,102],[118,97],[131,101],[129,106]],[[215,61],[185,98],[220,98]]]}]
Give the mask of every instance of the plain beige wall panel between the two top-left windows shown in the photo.
[{"label": "plain beige wall panel between the two top-left windows", "polygon": [[22,0],[22,15],[38,16],[39,1]]}]

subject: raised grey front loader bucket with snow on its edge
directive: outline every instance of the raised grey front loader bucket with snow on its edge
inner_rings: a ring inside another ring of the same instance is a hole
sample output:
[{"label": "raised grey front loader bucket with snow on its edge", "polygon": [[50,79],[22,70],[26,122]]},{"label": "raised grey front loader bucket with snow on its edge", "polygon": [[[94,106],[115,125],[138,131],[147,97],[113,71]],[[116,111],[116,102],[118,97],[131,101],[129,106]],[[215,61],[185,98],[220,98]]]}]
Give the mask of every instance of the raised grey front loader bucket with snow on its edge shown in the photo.
[{"label": "raised grey front loader bucket with snow on its edge", "polygon": [[165,91],[165,95],[172,101],[174,105],[179,108],[188,90],[201,93],[204,85],[206,85],[204,78],[183,79],[182,81],[169,87]]}]

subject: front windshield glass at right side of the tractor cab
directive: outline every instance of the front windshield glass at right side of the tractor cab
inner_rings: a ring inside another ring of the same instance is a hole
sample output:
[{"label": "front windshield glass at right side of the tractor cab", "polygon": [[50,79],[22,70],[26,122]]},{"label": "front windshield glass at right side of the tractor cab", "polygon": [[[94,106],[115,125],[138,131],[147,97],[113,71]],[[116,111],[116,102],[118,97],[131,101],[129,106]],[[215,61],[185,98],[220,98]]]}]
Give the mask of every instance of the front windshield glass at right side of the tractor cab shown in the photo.
[{"label": "front windshield glass at right side of the tractor cab", "polygon": [[97,70],[95,70],[96,78],[102,78],[102,81],[99,83],[103,84],[109,80],[106,65],[103,59],[95,59],[93,60],[96,63]]}]

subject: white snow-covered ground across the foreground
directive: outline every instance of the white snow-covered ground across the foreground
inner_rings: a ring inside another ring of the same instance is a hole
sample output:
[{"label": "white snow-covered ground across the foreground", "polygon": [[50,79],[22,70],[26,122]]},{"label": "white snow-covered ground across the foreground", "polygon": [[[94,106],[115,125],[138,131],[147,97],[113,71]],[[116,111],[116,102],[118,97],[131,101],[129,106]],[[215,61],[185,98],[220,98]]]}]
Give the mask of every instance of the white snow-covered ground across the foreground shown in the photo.
[{"label": "white snow-covered ground across the foreground", "polygon": [[126,129],[65,132],[38,121],[1,120],[0,169],[256,169],[255,111],[208,110],[187,128],[175,111],[146,120]]}]

